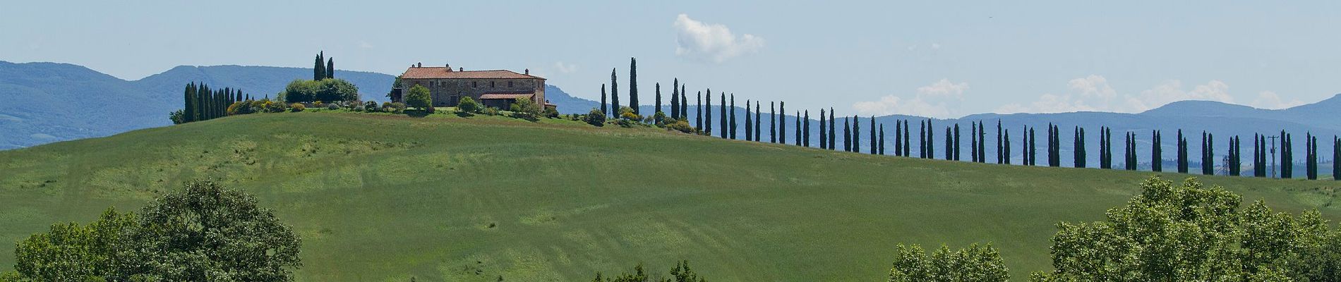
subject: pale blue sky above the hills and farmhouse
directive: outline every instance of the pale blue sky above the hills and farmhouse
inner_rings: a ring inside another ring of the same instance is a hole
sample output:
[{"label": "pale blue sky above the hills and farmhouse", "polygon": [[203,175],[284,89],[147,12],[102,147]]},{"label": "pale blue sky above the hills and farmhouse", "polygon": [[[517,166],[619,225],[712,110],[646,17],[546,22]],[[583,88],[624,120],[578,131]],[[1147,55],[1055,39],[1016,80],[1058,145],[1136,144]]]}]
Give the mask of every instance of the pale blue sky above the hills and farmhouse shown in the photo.
[{"label": "pale blue sky above the hills and farmhouse", "polygon": [[21,1],[0,60],[139,79],[174,65],[530,68],[598,99],[692,91],[839,114],[1263,108],[1341,92],[1338,1]]}]

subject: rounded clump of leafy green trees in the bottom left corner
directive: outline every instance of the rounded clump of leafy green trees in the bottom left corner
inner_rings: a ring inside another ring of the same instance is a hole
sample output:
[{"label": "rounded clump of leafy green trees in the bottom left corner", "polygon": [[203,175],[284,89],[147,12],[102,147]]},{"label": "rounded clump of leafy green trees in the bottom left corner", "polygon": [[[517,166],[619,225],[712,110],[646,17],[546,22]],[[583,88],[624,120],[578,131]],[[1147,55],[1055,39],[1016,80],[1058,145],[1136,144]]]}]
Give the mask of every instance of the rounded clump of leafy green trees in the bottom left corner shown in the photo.
[{"label": "rounded clump of leafy green trees in the bottom left corner", "polygon": [[256,199],[196,180],[94,223],[55,225],[15,250],[9,281],[292,281],[302,241]]}]

